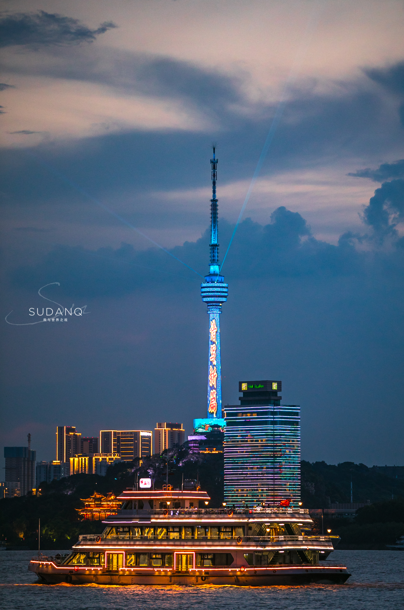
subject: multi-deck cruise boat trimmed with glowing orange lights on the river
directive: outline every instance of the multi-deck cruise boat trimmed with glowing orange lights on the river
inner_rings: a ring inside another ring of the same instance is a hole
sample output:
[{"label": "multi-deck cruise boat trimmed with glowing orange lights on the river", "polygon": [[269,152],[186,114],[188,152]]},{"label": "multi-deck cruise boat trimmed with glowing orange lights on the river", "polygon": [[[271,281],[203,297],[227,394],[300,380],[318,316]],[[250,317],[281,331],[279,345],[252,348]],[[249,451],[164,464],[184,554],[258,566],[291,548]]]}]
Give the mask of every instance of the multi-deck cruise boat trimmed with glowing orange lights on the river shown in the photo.
[{"label": "multi-deck cruise boat trimmed with glowing orange lights on the river", "polygon": [[[345,565],[323,562],[329,536],[311,536],[307,509],[207,508],[203,491],[127,489],[101,535],[71,553],[32,558],[43,583],[271,586],[343,584]],[[204,508],[201,508],[204,507]]]}]

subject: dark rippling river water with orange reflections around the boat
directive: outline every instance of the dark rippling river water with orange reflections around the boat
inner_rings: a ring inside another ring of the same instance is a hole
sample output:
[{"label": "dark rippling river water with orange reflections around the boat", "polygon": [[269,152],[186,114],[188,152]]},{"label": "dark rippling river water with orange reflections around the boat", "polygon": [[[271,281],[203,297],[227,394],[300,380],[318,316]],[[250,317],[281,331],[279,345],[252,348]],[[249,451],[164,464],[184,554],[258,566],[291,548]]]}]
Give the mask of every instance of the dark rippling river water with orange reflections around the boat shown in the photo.
[{"label": "dark rippling river water with orange reflections around the boat", "polygon": [[[61,553],[66,551],[59,551]],[[52,551],[52,554],[57,551]],[[35,610],[395,610],[404,608],[404,551],[335,551],[344,585],[162,587],[39,584],[32,551],[0,551],[0,608]],[[325,562],[327,564],[327,562]]]}]

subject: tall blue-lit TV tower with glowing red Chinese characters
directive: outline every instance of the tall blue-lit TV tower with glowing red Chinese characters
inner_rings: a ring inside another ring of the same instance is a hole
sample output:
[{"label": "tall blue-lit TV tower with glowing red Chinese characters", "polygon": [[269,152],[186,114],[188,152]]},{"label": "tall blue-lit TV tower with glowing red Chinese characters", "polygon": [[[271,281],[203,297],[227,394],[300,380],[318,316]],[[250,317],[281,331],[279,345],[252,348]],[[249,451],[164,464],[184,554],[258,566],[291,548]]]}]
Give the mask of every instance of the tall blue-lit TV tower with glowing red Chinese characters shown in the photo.
[{"label": "tall blue-lit TV tower with glowing red Chinese characters", "polygon": [[220,364],[220,314],[222,303],[227,301],[229,284],[219,275],[218,243],[218,199],[216,199],[216,179],[218,159],[210,160],[212,169],[212,198],[210,200],[210,268],[205,282],[200,284],[200,296],[208,305],[209,351],[208,351],[208,418],[222,417],[222,380]]}]

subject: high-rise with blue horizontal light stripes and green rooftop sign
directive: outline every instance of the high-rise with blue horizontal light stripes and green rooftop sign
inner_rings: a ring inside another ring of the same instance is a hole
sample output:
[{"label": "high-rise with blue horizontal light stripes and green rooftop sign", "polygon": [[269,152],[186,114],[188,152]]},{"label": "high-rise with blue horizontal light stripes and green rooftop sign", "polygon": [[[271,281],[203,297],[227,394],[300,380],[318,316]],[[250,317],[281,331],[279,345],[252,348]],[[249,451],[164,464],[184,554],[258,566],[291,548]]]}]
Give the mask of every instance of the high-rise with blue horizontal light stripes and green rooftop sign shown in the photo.
[{"label": "high-rise with blue horizontal light stripes and green rooftop sign", "polygon": [[300,406],[280,404],[282,381],[240,381],[225,406],[224,499],[236,508],[300,501]]}]

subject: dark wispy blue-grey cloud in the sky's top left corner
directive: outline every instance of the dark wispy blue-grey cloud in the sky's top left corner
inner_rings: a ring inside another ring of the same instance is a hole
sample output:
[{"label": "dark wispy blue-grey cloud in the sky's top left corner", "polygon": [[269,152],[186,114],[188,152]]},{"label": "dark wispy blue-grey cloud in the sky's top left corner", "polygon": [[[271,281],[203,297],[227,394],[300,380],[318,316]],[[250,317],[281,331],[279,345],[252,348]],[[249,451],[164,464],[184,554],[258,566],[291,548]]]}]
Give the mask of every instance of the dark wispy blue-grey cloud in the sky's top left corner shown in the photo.
[{"label": "dark wispy blue-grey cloud in the sky's top left corner", "polygon": [[117,27],[112,21],[90,29],[78,19],[47,13],[3,14],[0,17],[0,46],[27,46],[38,49],[44,46],[79,45],[93,42],[97,35]]}]

